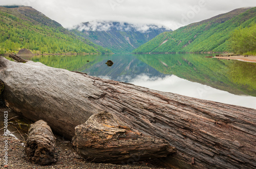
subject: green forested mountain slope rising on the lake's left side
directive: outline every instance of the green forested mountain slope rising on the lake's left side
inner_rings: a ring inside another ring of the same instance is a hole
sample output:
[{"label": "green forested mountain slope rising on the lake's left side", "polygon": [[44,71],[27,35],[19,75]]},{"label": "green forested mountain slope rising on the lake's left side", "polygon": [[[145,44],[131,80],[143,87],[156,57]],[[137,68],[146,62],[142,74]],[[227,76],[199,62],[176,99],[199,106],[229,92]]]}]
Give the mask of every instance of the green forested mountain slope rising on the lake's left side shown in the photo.
[{"label": "green forested mountain slope rising on the lake's left side", "polygon": [[0,54],[27,48],[34,53],[110,53],[79,37],[32,7],[0,7]]}]

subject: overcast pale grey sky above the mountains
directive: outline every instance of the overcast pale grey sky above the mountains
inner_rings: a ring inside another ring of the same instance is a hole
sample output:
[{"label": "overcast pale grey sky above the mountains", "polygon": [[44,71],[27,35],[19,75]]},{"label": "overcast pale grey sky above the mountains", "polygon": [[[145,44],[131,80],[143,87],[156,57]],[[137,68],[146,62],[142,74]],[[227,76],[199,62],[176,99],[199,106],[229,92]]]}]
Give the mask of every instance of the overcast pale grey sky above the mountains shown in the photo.
[{"label": "overcast pale grey sky above the mountains", "polygon": [[0,5],[25,5],[44,13],[63,27],[106,20],[164,25],[170,29],[208,19],[255,0],[1,0]]}]

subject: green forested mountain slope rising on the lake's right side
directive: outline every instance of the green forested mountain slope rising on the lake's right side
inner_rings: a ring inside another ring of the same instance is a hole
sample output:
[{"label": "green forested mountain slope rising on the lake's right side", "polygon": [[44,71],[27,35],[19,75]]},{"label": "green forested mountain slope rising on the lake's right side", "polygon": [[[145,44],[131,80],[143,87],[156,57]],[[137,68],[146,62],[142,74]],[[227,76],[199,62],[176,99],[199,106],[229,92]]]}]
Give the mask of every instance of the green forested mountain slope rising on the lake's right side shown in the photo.
[{"label": "green forested mountain slope rising on the lake's right side", "polygon": [[230,33],[256,22],[256,8],[240,8],[201,22],[164,32],[141,45],[135,53],[229,51]]}]

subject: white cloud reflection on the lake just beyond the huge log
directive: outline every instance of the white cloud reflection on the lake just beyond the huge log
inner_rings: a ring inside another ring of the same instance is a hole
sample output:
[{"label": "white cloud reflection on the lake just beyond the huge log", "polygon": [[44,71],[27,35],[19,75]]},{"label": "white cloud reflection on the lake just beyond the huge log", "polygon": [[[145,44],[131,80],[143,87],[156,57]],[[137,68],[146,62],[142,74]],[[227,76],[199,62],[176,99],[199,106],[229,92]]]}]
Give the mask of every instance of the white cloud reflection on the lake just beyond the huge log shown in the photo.
[{"label": "white cloud reflection on the lake just beyond the huge log", "polygon": [[[108,76],[101,76],[101,78],[111,79]],[[141,74],[135,78],[120,76],[118,81],[125,81],[133,83],[134,85],[162,92],[177,93],[184,96],[256,109],[256,97],[230,94],[226,91],[211,88],[197,82],[191,82],[175,75],[169,75],[166,77],[150,77],[146,74]]]}]

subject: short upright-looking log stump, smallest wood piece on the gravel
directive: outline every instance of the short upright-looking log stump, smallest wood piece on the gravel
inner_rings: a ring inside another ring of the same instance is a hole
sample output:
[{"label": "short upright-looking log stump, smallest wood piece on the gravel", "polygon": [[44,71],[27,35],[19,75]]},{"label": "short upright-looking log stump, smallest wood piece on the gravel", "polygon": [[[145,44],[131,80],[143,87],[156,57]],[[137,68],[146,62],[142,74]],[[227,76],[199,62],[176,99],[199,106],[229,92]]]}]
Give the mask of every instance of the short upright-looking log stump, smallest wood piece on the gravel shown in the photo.
[{"label": "short upright-looking log stump, smallest wood piece on the gravel", "polygon": [[55,139],[50,126],[43,120],[31,124],[25,145],[29,161],[39,165],[55,163]]}]

